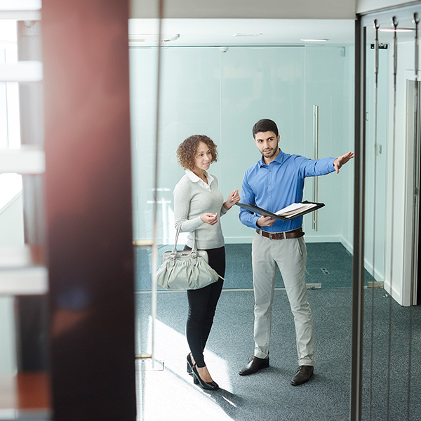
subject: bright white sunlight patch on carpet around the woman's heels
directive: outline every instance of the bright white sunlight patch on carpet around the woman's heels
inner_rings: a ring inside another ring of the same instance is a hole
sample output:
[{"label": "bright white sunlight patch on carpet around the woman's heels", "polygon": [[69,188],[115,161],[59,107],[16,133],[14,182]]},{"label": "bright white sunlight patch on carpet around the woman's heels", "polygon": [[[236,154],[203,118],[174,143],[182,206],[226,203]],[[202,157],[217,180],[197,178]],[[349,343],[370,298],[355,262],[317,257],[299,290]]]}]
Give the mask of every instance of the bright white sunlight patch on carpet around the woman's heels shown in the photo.
[{"label": "bright white sunlight patch on carpet around the woman's heels", "polygon": [[[151,347],[149,318],[148,349]],[[213,352],[205,358],[212,374],[218,379],[219,391],[204,391],[194,385],[187,374],[186,338],[159,320],[155,321],[155,351],[157,362],[137,362],[138,420],[232,420],[221,408],[236,408],[236,396],[228,377],[227,363]],[[168,352],[168,351],[171,352]],[[163,370],[160,370],[163,366]]]}]

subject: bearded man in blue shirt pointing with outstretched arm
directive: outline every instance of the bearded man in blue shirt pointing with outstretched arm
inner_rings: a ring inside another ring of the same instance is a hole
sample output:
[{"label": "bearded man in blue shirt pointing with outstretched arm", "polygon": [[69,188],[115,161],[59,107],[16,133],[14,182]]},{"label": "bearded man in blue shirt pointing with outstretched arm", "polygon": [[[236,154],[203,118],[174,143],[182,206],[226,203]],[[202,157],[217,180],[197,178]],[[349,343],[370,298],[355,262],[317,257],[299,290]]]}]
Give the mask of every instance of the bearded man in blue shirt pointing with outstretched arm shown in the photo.
[{"label": "bearded man in blue shirt pointing with outstretched arm", "polygon": [[[285,154],[279,149],[276,123],[263,119],[253,126],[253,138],[262,159],[248,168],[243,178],[241,202],[251,203],[272,213],[291,203],[302,201],[306,177],[336,171],[354,157],[348,152],[336,159],[307,159]],[[295,322],[298,365],[291,384],[301,385],[313,375],[314,335],[312,312],[307,301],[305,265],[307,250],[302,232],[302,216],[288,221],[255,215],[241,208],[239,218],[254,228],[252,261],[255,294],[255,352],[240,375],[249,375],[269,367],[269,341],[272,325],[272,302],[276,266],[285,284]]]}]

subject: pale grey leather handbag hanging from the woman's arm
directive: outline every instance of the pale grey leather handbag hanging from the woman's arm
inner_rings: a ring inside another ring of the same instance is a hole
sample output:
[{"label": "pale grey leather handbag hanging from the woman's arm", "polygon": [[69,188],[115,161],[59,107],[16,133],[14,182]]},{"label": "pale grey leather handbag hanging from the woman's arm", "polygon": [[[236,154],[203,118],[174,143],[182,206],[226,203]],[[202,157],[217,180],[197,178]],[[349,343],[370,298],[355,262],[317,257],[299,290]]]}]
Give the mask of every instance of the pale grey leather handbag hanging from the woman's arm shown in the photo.
[{"label": "pale grey leather handbag hanging from the woman's arm", "polygon": [[208,265],[208,253],[196,248],[194,232],[192,250],[177,250],[178,234],[180,227],[175,235],[173,250],[162,255],[161,267],[156,272],[158,286],[172,290],[188,290],[203,288],[218,281],[220,276]]}]

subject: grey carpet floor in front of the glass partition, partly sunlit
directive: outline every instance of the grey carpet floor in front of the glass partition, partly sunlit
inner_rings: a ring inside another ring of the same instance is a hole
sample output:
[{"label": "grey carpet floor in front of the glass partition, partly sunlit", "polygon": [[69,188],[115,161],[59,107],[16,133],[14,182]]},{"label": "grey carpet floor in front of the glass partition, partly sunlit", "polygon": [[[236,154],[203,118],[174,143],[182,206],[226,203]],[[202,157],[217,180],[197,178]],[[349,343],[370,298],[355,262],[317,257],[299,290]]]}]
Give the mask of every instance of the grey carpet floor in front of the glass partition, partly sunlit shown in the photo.
[{"label": "grey carpet floor in front of the glass partition, partly sunlit", "polygon": [[[241,377],[253,354],[253,291],[222,292],[205,353],[221,389],[205,392],[186,373],[186,295],[159,293],[155,354],[164,369],[137,363],[139,420],[349,420],[352,288],[309,290],[316,366],[298,387],[290,385],[297,368],[293,317],[285,291],[275,294],[270,367]],[[386,295],[365,294],[362,419],[420,420],[421,307],[400,307]],[[138,352],[150,349],[150,298],[136,294]]]}]

